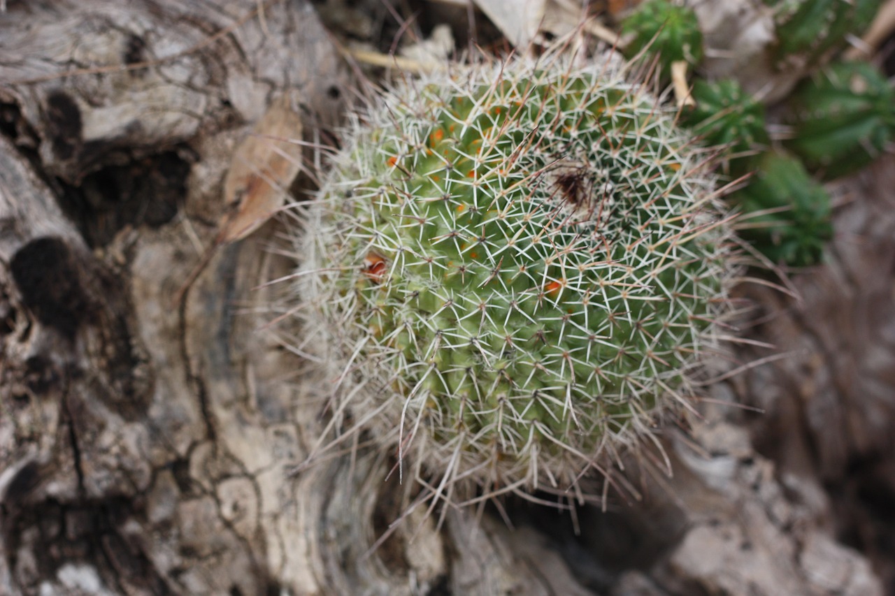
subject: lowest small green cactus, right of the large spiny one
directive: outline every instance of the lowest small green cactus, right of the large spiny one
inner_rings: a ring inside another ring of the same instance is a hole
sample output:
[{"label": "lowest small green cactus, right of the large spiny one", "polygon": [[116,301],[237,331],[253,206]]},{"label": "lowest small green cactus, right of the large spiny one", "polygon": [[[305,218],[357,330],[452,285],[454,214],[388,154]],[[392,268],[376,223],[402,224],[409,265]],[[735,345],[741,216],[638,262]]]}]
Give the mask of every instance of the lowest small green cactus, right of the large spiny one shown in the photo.
[{"label": "lowest small green cactus, right of the large spiny one", "polygon": [[737,233],[775,263],[814,265],[832,237],[830,194],[791,155],[767,151],[754,178],[730,196],[741,210]]}]

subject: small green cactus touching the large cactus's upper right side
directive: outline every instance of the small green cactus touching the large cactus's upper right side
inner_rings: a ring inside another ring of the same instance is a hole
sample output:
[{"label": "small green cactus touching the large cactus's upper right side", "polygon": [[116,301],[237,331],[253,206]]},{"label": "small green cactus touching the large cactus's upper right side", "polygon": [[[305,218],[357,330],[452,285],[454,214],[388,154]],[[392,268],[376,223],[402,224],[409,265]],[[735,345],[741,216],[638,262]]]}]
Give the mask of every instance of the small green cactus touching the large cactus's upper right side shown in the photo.
[{"label": "small green cactus touching the large cactus's upper right side", "polygon": [[731,174],[746,174],[750,158],[771,142],[764,128],[764,105],[731,79],[697,79],[691,93],[696,105],[683,108],[682,123],[707,145],[726,149],[723,161]]}]

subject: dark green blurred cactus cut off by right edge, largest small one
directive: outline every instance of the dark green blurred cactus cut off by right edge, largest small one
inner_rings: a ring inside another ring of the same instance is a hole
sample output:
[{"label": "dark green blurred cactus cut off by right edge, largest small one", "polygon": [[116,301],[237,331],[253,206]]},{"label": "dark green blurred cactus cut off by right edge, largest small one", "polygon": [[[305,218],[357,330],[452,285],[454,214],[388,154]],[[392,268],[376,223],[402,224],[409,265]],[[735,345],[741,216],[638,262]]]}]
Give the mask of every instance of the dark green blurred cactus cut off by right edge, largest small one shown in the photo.
[{"label": "dark green blurred cactus cut off by right edge, largest small one", "polygon": [[895,91],[873,64],[831,64],[804,81],[788,107],[787,149],[827,180],[869,165],[895,135]]}]

